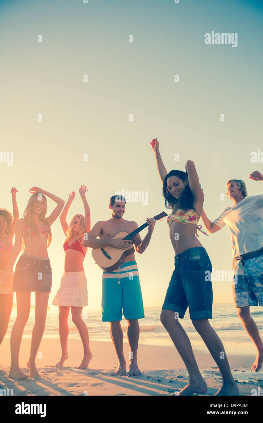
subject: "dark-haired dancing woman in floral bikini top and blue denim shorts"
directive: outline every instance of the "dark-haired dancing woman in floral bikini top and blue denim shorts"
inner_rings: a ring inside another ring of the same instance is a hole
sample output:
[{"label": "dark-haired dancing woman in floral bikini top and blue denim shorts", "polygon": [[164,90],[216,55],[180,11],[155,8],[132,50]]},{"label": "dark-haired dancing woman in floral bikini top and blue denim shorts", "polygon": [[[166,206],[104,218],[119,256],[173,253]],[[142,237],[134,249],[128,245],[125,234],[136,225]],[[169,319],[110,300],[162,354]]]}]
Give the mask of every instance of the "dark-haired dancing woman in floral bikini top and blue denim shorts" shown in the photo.
[{"label": "dark-haired dancing woman in floral bikini top and blue denim shorts", "polygon": [[[195,237],[203,209],[203,191],[195,164],[187,160],[185,169],[167,173],[157,138],[152,140],[157,169],[163,183],[165,206],[172,209],[167,217],[171,243],[175,252],[175,269],[171,277],[160,320],[170,335],[189,373],[189,384],[179,395],[205,393],[207,385],[198,369],[190,340],[179,323],[189,307],[190,319],[214,358],[222,375],[223,385],[215,395],[237,395],[239,392],[230,371],[223,344],[210,326],[212,318],[212,265],[206,250]],[[203,232],[203,231],[202,231]],[[198,235],[197,235],[198,236]],[[209,280],[210,279],[210,280]]]}]

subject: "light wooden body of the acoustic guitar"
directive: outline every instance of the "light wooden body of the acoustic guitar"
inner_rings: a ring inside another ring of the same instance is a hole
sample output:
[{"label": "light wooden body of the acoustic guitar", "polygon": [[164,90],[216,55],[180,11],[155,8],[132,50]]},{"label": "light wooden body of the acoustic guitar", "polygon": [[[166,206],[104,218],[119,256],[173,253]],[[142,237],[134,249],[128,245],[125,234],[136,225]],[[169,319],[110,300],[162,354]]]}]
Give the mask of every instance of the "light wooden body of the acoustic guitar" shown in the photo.
[{"label": "light wooden body of the acoustic guitar", "polygon": [[[113,239],[124,238],[127,235],[127,232],[119,232],[113,237]],[[103,253],[103,250],[106,254]],[[111,245],[103,248],[92,248],[91,252],[96,264],[98,264],[100,269],[104,270],[104,272],[113,272],[118,269],[118,267],[123,263],[125,257],[133,253],[133,246],[129,248],[129,250],[121,250],[120,248],[111,247]]]}]

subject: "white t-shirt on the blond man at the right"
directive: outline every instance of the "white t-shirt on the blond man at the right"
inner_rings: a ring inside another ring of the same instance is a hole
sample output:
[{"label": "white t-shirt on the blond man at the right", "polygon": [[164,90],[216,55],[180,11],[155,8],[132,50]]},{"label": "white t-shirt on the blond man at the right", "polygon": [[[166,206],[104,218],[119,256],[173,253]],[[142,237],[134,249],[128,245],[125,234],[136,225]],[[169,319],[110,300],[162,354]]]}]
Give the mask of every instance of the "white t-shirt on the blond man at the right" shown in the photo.
[{"label": "white t-shirt on the blond man at the right", "polygon": [[263,194],[227,207],[214,223],[220,228],[228,226],[233,257],[259,250],[263,247]]}]

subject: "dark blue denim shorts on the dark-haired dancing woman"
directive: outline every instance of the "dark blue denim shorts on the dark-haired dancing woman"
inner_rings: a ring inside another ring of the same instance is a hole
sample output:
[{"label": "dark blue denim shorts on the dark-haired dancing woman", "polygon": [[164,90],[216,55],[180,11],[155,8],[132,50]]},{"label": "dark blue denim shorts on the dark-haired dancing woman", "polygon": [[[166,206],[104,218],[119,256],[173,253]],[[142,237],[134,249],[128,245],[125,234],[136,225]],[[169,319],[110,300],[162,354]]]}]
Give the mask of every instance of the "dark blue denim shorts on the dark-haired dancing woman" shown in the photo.
[{"label": "dark blue denim shorts on the dark-haired dancing woman", "polygon": [[173,310],[183,319],[189,307],[191,320],[211,319],[213,291],[208,275],[212,265],[205,248],[189,248],[177,254],[174,264],[162,310]]}]

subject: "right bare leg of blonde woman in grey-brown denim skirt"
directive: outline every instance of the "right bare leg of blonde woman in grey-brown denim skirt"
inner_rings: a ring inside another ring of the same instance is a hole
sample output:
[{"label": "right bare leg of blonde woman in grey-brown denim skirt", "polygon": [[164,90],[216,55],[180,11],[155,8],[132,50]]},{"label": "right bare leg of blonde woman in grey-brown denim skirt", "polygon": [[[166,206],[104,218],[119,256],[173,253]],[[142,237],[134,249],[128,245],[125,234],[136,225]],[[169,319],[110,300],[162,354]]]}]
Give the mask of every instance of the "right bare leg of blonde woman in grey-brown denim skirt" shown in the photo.
[{"label": "right bare leg of blonde woman in grey-brown denim skirt", "polygon": [[49,292],[35,293],[35,324],[32,330],[30,357],[27,361],[27,367],[30,369],[30,376],[33,377],[40,377],[35,366],[35,357],[45,330],[48,301]]}]

